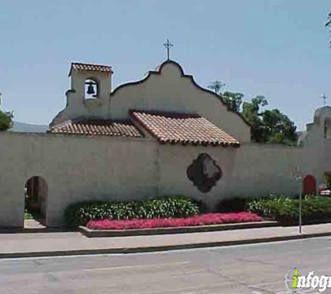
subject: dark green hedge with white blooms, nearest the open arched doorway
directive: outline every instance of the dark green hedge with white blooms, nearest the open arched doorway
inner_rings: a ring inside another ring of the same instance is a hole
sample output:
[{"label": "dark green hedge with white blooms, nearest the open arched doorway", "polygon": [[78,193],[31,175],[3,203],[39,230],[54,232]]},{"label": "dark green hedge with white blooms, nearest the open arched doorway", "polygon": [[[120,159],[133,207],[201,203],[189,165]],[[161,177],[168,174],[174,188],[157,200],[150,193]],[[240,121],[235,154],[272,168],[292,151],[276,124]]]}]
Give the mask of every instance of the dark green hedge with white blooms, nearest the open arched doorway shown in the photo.
[{"label": "dark green hedge with white blooms, nearest the open arched doorway", "polygon": [[91,219],[152,219],[197,215],[197,203],[185,196],[164,196],[148,201],[87,201],[65,210],[68,226],[85,226]]}]

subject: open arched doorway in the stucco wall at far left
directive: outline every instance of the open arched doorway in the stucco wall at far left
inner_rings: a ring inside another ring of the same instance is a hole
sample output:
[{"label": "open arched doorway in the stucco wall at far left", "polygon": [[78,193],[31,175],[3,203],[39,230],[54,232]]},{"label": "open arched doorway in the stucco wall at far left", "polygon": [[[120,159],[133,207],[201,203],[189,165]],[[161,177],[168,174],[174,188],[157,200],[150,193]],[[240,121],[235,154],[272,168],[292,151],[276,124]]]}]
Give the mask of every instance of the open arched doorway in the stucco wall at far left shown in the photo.
[{"label": "open arched doorway in the stucco wall at far left", "polygon": [[26,181],[24,187],[26,219],[38,219],[45,225],[47,192],[47,182],[43,177],[33,176]]}]

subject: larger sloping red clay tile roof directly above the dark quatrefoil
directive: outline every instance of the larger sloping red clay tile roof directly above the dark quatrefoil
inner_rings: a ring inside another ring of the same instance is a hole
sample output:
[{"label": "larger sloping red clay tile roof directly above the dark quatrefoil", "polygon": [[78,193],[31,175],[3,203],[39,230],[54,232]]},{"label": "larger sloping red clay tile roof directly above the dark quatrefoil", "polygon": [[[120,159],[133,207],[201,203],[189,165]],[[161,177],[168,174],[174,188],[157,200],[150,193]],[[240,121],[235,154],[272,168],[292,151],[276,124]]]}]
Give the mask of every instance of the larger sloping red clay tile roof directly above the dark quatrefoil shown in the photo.
[{"label": "larger sloping red clay tile roof directly above the dark quatrefoil", "polygon": [[131,111],[131,116],[162,143],[240,146],[240,143],[197,114]]}]

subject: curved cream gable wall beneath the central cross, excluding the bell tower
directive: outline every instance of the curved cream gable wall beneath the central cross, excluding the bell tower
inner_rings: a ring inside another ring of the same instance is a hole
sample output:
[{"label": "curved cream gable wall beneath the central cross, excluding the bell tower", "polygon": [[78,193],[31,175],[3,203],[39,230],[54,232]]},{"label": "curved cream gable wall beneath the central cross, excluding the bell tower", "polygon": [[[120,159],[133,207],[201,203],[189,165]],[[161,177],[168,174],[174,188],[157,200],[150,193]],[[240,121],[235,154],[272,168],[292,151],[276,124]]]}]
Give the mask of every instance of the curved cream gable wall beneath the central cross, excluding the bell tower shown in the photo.
[{"label": "curved cream gable wall beneath the central cross, excluding the bell tower", "polygon": [[175,61],[165,61],[138,82],[118,86],[111,93],[111,118],[125,118],[130,109],[195,113],[222,127],[239,141],[250,141],[250,125],[223,100],[185,75]]}]

